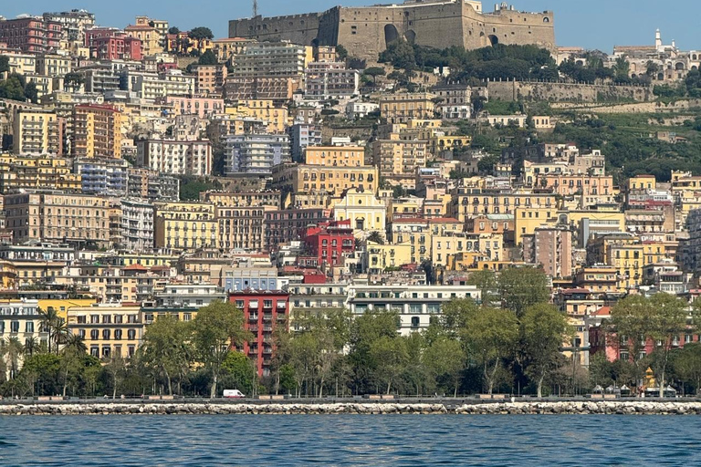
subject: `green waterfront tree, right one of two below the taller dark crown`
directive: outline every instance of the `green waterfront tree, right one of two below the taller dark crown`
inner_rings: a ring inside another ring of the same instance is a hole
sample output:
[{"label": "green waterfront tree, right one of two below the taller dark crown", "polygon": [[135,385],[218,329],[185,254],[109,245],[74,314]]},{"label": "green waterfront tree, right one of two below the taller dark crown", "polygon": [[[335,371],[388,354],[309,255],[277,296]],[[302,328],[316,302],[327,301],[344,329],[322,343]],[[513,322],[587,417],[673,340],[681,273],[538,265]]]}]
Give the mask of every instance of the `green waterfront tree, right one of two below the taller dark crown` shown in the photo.
[{"label": "green waterfront tree, right one of two below the taller dark crown", "polygon": [[567,317],[549,304],[528,306],[520,320],[527,372],[535,380],[538,397],[543,397],[543,381],[560,356],[560,347],[571,333]]}]

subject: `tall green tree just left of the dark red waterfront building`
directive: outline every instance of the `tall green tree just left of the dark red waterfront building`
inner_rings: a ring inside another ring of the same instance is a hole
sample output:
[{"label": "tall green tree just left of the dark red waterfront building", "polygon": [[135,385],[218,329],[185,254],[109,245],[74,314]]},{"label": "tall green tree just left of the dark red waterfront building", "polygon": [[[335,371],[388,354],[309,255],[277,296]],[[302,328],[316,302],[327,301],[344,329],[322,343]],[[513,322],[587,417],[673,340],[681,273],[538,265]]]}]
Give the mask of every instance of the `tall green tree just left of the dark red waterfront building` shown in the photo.
[{"label": "tall green tree just left of the dark red waterfront building", "polygon": [[214,302],[200,308],[193,324],[194,347],[204,368],[212,375],[210,397],[214,398],[229,349],[242,347],[250,334],[244,330],[243,312],[230,303]]}]

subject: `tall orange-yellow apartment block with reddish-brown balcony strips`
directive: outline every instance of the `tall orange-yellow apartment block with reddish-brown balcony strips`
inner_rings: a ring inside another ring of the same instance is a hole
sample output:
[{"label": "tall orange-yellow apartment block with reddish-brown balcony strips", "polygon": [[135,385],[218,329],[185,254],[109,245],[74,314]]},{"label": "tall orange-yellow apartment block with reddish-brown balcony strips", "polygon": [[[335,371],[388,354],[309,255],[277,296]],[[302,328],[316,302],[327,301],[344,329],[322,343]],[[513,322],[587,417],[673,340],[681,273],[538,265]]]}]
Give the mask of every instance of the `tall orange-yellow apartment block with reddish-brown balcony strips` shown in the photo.
[{"label": "tall orange-yellow apartment block with reddish-brown balcony strips", "polygon": [[73,154],[77,157],[121,157],[122,119],[109,105],[76,106],[73,113]]}]

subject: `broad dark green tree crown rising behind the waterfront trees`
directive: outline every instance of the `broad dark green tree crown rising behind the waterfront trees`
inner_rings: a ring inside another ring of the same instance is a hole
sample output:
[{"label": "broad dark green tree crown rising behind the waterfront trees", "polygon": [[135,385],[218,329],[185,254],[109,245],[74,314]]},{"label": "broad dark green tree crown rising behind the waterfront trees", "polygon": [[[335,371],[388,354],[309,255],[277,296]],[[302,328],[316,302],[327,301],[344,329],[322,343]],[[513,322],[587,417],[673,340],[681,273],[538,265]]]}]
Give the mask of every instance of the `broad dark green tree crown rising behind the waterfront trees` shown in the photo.
[{"label": "broad dark green tree crown rising behind the waterfront trees", "polygon": [[502,306],[521,317],[528,306],[549,302],[548,276],[534,267],[508,268],[499,273]]}]

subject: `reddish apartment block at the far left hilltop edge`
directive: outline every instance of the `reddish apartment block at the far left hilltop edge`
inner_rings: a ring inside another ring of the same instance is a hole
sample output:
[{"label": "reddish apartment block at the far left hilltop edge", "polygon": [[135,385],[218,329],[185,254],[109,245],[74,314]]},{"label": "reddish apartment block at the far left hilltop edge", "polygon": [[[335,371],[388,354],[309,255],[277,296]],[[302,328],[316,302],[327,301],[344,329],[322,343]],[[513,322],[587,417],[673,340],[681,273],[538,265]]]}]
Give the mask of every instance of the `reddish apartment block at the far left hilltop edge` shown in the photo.
[{"label": "reddish apartment block at the far left hilltop edge", "polygon": [[41,16],[0,20],[0,42],[29,54],[45,54],[58,49],[63,26]]}]

